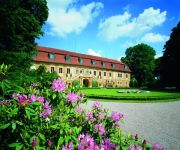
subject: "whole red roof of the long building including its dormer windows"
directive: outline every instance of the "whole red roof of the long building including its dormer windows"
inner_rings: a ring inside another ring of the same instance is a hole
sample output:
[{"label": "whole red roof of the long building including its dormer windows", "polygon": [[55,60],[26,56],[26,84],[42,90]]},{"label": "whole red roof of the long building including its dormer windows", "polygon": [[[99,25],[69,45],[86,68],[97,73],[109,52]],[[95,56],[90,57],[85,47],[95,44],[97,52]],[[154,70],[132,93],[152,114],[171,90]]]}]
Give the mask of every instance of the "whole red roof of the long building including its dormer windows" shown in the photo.
[{"label": "whole red roof of the long building including its dormer windows", "polygon": [[129,68],[120,61],[45,47],[40,48],[41,49],[38,48],[38,54],[34,58],[35,61],[82,65],[130,72]]}]

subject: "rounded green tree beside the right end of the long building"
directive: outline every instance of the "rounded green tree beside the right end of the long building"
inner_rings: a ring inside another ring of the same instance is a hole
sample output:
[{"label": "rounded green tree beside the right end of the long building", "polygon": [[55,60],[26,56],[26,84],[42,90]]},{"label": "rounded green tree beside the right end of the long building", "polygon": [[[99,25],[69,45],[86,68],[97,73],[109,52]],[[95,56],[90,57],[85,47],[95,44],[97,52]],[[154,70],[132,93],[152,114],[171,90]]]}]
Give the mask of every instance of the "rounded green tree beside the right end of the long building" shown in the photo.
[{"label": "rounded green tree beside the right end of the long building", "polygon": [[155,50],[142,43],[129,47],[125,54],[121,61],[129,66],[138,86],[149,86],[154,80]]}]

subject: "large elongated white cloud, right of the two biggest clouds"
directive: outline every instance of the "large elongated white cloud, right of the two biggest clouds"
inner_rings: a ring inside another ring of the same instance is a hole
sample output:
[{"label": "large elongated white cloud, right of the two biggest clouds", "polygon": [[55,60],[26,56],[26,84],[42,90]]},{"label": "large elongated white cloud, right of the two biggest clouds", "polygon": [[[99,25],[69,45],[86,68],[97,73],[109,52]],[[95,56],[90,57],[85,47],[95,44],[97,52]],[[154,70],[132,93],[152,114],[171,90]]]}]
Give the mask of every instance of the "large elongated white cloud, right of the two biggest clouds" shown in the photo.
[{"label": "large elongated white cloud, right of the two biggest clouds", "polygon": [[137,37],[166,20],[166,11],[150,7],[145,9],[136,18],[125,11],[123,14],[111,16],[99,24],[99,36],[106,41],[113,41],[120,37]]}]

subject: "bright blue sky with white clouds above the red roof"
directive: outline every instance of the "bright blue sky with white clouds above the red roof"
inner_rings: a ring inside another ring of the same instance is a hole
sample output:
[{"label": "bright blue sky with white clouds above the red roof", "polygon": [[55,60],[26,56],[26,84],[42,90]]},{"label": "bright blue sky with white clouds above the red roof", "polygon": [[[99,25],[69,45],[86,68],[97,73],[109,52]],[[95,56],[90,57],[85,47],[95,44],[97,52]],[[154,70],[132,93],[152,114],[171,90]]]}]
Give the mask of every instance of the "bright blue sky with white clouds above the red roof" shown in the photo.
[{"label": "bright blue sky with white clouds above the red roof", "polygon": [[179,0],[47,0],[49,17],[38,45],[112,59],[146,43],[161,56],[180,21]]}]

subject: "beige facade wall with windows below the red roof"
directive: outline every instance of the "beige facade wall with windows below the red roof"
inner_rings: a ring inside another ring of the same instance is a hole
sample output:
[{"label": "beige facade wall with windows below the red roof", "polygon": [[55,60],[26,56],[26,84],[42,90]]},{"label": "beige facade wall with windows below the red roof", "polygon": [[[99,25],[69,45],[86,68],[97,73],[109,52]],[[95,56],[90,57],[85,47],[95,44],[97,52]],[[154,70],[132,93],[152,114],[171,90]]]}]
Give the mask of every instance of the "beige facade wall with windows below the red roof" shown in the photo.
[{"label": "beige facade wall with windows below the red roof", "polygon": [[[49,72],[54,68],[54,71],[56,71],[60,78],[69,86],[71,86],[72,81],[79,80],[81,86],[83,86],[84,82],[88,82],[88,86],[92,87],[92,81],[94,80],[98,82],[100,87],[129,87],[129,72],[113,71],[103,68],[88,68],[80,65],[73,66],[68,64],[35,63],[34,66],[38,68],[42,64],[46,66]],[[61,71],[60,68],[62,68],[62,73],[59,72]],[[68,69],[70,69],[70,73],[67,73]],[[96,72],[96,75],[94,72]]]}]

